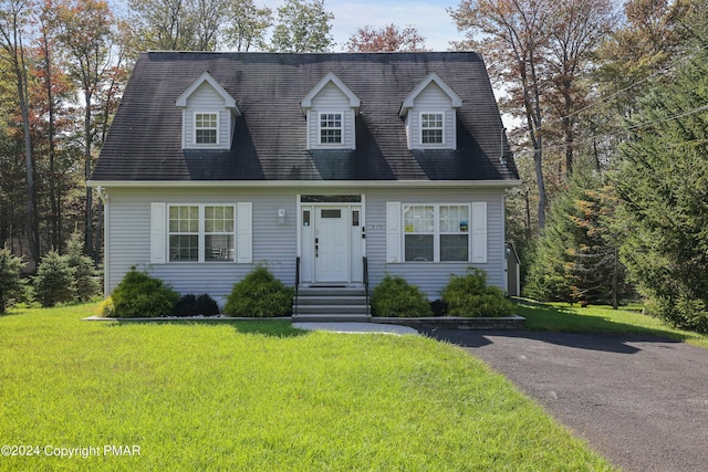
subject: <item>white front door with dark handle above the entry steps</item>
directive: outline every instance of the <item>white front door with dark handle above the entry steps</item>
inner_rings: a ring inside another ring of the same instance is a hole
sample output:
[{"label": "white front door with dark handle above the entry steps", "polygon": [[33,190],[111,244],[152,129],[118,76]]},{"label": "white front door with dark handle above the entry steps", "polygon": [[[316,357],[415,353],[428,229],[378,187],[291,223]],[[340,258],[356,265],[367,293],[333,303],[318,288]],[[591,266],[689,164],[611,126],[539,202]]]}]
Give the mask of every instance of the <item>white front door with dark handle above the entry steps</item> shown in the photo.
[{"label": "white front door with dark handle above the entry steps", "polygon": [[348,208],[315,207],[314,281],[350,280]]}]

